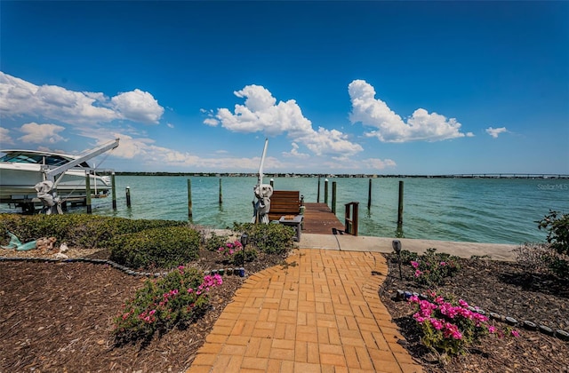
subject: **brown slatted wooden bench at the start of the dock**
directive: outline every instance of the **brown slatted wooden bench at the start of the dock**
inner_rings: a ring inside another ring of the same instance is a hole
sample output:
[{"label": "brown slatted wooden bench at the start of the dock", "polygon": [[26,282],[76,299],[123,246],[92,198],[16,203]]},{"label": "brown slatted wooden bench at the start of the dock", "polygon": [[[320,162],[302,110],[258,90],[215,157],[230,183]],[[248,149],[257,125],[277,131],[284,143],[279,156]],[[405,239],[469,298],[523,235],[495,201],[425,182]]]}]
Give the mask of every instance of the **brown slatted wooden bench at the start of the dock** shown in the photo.
[{"label": "brown slatted wooden bench at the start of the dock", "polygon": [[298,190],[275,190],[270,196],[268,220],[277,221],[284,226],[293,226],[296,241],[301,241],[302,215],[301,192]]}]

